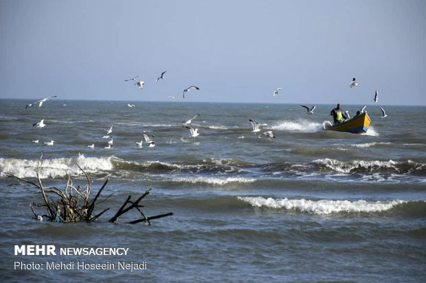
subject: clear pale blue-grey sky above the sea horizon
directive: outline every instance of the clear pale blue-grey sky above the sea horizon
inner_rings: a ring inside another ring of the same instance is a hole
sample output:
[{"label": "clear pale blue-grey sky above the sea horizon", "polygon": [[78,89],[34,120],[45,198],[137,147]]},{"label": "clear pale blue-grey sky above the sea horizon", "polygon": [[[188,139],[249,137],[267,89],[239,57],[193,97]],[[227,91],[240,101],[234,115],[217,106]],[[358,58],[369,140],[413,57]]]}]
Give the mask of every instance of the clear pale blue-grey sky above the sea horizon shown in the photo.
[{"label": "clear pale blue-grey sky above the sea horizon", "polygon": [[[423,0],[0,0],[0,99],[372,104],[378,90],[425,106],[425,14]],[[142,90],[124,82],[137,75]]]}]

